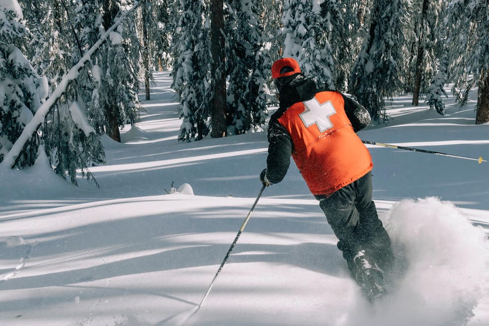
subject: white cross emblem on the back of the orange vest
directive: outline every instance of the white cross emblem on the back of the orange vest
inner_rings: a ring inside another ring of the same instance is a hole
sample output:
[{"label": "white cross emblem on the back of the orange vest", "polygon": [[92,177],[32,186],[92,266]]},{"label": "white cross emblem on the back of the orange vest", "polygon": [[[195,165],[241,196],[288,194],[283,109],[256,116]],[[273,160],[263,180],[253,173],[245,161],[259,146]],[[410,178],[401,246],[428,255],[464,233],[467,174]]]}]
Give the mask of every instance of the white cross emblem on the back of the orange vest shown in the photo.
[{"label": "white cross emblem on the back of the orange vest", "polygon": [[320,132],[326,131],[333,127],[329,116],[336,113],[331,101],[320,104],[316,98],[312,98],[304,103],[304,112],[299,114],[300,119],[306,128],[316,124]]}]

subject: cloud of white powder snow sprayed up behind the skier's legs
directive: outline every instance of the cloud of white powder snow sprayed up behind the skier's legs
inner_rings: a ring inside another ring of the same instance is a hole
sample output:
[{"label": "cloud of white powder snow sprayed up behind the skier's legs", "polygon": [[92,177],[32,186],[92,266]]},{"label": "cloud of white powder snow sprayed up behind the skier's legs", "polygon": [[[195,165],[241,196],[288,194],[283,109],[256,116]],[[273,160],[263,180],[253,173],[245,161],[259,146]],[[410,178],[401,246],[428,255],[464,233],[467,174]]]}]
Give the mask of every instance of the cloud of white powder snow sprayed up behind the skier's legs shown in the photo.
[{"label": "cloud of white powder snow sprayed up behind the skier's legs", "polygon": [[466,325],[489,280],[489,246],[482,228],[474,227],[454,204],[434,197],[397,203],[386,228],[407,269],[397,290],[378,303],[377,313],[365,309],[348,325],[363,319],[365,326]]}]

